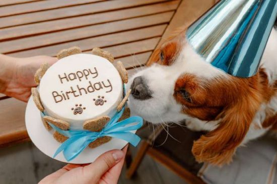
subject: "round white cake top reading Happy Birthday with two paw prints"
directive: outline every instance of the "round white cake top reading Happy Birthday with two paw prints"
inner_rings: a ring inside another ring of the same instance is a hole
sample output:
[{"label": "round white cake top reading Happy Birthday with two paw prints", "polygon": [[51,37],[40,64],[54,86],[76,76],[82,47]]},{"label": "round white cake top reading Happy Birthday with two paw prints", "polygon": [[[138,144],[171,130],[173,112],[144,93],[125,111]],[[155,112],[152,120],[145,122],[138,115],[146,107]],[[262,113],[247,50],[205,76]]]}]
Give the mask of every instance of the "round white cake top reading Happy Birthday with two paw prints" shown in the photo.
[{"label": "round white cake top reading Happy Birthday with two paw prints", "polygon": [[116,109],[122,99],[122,80],[107,59],[76,54],[60,59],[46,71],[39,94],[50,116],[84,122]]}]

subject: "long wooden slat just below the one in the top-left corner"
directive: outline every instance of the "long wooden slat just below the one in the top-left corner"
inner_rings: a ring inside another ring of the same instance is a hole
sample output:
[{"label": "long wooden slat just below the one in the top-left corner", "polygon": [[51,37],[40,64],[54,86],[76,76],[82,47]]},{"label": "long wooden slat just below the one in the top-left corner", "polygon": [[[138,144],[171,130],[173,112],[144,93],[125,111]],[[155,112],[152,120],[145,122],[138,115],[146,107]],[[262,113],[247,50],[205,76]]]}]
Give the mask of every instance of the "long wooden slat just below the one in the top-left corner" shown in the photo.
[{"label": "long wooden slat just below the one in the top-left corner", "polygon": [[0,28],[149,5],[167,0],[117,0],[0,18]]}]

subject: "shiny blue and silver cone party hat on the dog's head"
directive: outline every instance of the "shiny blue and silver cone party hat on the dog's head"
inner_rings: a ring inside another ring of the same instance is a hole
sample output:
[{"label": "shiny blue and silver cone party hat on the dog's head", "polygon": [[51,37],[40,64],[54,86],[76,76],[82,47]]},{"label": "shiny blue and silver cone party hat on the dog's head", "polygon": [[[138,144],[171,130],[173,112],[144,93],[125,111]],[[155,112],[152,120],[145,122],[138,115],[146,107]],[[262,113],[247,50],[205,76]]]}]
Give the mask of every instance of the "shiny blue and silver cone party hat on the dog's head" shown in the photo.
[{"label": "shiny blue and silver cone party hat on the dog's head", "polygon": [[277,16],[277,0],[222,0],[186,32],[206,62],[236,77],[256,74]]}]

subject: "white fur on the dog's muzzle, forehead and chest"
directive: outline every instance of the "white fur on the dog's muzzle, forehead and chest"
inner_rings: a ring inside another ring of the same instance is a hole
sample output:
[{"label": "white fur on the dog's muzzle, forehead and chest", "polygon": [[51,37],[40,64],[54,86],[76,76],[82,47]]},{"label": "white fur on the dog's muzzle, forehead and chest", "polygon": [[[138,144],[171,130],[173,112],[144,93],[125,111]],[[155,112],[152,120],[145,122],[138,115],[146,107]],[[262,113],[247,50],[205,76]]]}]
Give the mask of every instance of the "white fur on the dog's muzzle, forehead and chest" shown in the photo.
[{"label": "white fur on the dog's muzzle, forehead and chest", "polygon": [[[260,64],[260,67],[265,69],[270,84],[277,79],[276,52],[277,31],[273,29]],[[132,113],[140,115],[152,123],[179,122],[186,119],[188,128],[192,130],[214,130],[217,127],[218,121],[205,123],[199,119],[189,117],[182,113],[182,106],[175,101],[173,97],[175,82],[180,75],[185,73],[195,74],[205,79],[215,78],[219,75],[228,78],[227,74],[213,67],[211,64],[202,61],[187,44],[184,44],[179,57],[173,65],[163,66],[154,64],[132,76],[129,80],[130,83],[135,77],[143,76],[147,80],[150,90],[153,92],[153,98],[144,101],[134,99],[130,95],[128,105]],[[130,86],[130,83],[127,87]],[[267,106],[274,109],[275,112],[277,111],[277,95],[272,97],[268,104],[262,104],[260,106],[243,143],[263,135],[268,130],[268,128],[262,128]]]}]

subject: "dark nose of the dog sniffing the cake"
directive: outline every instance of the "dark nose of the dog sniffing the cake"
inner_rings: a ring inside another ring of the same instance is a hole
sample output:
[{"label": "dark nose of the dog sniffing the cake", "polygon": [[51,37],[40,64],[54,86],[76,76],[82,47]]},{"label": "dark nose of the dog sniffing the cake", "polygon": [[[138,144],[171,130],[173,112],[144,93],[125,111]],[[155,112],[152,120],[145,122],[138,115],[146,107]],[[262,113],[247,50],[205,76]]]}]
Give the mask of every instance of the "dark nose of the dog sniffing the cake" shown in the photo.
[{"label": "dark nose of the dog sniffing the cake", "polygon": [[152,92],[149,90],[146,81],[142,76],[133,79],[131,93],[135,99],[139,100],[147,100],[152,97]]}]

